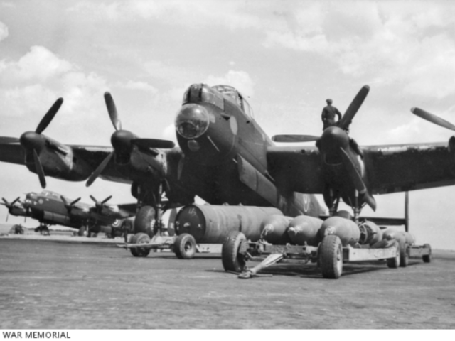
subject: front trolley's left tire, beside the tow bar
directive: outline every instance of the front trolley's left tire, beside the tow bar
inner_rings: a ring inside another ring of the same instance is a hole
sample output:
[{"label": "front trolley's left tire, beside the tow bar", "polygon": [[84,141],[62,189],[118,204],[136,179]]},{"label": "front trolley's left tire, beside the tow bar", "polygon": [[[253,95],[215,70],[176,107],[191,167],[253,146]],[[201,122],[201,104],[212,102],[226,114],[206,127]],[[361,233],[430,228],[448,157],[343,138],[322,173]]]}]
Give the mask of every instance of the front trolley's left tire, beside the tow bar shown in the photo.
[{"label": "front trolley's left tire, beside the tow bar", "polygon": [[242,243],[246,241],[247,238],[242,232],[232,231],[228,234],[221,249],[221,261],[223,262],[225,271],[240,273],[247,268],[244,257],[242,254],[239,254]]}]

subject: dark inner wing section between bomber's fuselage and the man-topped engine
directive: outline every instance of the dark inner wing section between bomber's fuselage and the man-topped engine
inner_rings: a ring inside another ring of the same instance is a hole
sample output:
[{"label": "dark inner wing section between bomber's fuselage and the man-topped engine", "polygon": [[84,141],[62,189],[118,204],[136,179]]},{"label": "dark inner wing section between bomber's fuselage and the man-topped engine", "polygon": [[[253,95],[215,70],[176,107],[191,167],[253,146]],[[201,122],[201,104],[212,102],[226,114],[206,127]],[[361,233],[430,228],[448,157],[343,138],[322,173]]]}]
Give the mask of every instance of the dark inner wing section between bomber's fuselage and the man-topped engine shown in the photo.
[{"label": "dark inner wing section between bomber's fuselage and the man-topped engine", "polygon": [[269,147],[267,168],[280,188],[300,193],[322,193],[321,154],[316,147]]}]

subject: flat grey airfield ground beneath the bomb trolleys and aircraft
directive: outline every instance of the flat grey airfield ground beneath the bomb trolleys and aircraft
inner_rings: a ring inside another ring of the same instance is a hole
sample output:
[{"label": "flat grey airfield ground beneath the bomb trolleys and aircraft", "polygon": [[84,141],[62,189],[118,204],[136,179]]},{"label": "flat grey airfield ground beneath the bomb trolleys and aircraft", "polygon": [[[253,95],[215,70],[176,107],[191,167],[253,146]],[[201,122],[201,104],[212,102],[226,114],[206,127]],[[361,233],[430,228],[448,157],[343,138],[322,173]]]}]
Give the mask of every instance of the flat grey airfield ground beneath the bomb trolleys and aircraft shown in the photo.
[{"label": "flat grey airfield ground beneath the bomb trolleys and aircraft", "polygon": [[455,328],[453,251],[338,280],[289,265],[240,280],[219,254],[138,259],[99,238],[0,237],[0,255],[0,329]]}]

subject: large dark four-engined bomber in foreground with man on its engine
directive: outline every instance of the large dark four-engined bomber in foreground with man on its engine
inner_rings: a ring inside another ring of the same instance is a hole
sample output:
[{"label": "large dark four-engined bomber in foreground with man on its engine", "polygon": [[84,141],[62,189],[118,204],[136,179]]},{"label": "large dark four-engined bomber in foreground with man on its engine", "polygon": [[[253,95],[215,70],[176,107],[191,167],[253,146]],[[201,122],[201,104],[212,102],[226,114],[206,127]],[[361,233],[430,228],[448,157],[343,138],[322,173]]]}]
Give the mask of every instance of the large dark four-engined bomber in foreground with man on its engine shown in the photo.
[{"label": "large dark four-engined bomber in foreground with man on its engine", "polygon": [[[171,141],[140,139],[122,129],[109,93],[105,102],[114,125],[111,147],[65,145],[41,134],[63,99],[50,108],[36,131],[20,139],[0,138],[0,160],[26,165],[63,180],[105,180],[131,184],[140,207],[134,232],[151,231],[161,208],[186,205],[198,195],[212,205],[277,207],[284,215],[318,217],[314,194],[323,194],[331,213],[343,199],[358,217],[373,195],[455,184],[454,156],[444,143],[362,146],[347,129],[369,87],[353,99],[338,126],[317,136],[276,136],[277,141],[316,140],[316,146],[275,146],[235,88],[194,84],[183,94],[176,119],[180,148]],[[360,151],[363,158],[360,157]],[[309,194],[303,194],[309,193]],[[162,201],[162,195],[167,200]]]}]

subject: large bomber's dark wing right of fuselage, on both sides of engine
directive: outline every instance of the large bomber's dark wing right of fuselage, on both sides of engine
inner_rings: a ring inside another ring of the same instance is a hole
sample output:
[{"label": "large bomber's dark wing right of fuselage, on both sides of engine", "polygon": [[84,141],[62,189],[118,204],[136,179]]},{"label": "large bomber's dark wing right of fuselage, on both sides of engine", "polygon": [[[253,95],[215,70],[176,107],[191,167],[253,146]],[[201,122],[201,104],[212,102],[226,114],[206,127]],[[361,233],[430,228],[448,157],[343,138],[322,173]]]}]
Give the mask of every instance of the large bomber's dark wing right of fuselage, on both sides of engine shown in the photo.
[{"label": "large bomber's dark wing right of fuselage, on both sides of engine", "polygon": [[[455,153],[447,144],[362,146],[371,194],[455,185]],[[322,193],[321,154],[316,147],[267,148],[269,173],[277,185],[301,193]]]}]

